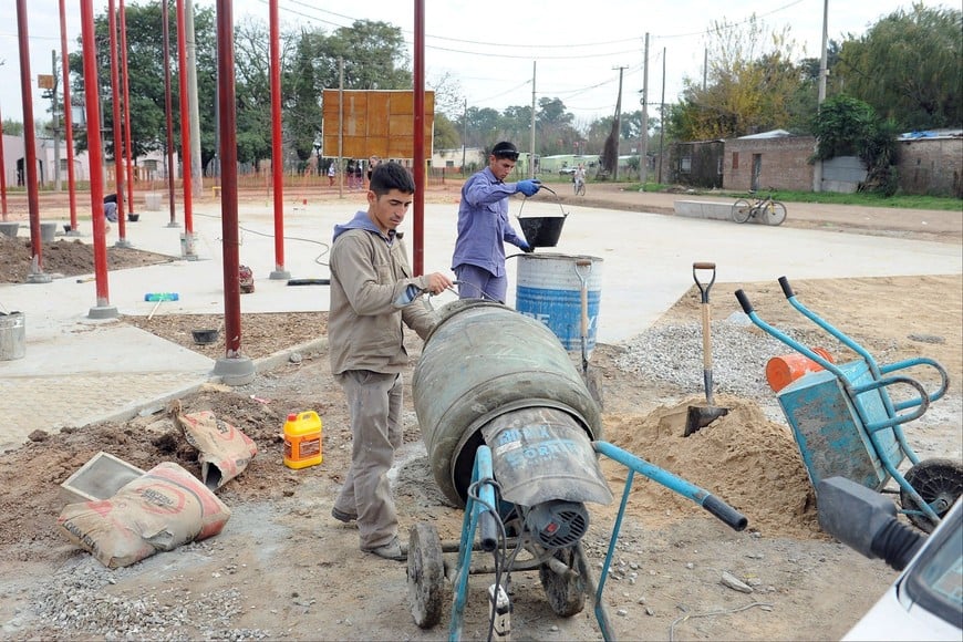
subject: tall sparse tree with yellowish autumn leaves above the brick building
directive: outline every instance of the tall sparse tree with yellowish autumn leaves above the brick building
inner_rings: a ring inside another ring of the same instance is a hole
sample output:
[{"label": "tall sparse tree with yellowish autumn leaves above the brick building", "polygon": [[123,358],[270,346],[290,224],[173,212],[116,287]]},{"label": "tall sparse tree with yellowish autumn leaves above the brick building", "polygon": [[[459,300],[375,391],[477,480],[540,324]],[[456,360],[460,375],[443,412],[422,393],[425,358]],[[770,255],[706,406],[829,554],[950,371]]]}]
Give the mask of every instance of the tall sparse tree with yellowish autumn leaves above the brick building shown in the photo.
[{"label": "tall sparse tree with yellowish autumn leaves above the brick building", "polygon": [[682,141],[743,136],[784,127],[790,121],[790,97],[800,84],[791,62],[789,29],[769,35],[753,15],[742,28],[715,22],[710,30],[708,82],[686,77],[681,103],[670,114],[667,131]]}]

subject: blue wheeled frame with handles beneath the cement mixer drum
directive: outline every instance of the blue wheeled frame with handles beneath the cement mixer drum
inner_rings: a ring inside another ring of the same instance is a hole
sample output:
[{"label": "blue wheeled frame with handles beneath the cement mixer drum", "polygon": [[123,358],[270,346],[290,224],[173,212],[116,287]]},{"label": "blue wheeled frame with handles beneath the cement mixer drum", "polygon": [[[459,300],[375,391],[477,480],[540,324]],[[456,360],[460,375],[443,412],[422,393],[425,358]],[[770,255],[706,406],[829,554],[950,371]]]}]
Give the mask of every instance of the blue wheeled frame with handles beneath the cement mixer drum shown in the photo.
[{"label": "blue wheeled frame with handles beneath the cement mixer drum", "polygon": [[[431,629],[441,621],[447,592],[445,580],[451,580],[454,596],[448,638],[460,640],[465,605],[468,600],[468,577],[494,573],[496,581],[488,589],[489,639],[493,638],[493,633],[499,639],[506,639],[510,634],[510,604],[501,577],[512,571],[537,569],[546,597],[556,614],[571,617],[580,613],[584,608],[584,598],[589,596],[594,603],[594,615],[602,636],[607,641],[614,640],[614,631],[602,594],[635,473],[695,501],[736,531],[747,526],[748,520],[745,516],[707,490],[608,442],[593,442],[592,446],[597,454],[604,455],[628,468],[621,505],[598,584],[589,570],[581,540],[569,548],[550,550],[535,543],[531,538],[526,537],[525,531],[516,538],[506,536],[501,520],[501,511],[506,506],[504,503],[499,505],[498,483],[494,477],[491,465],[491,449],[480,445],[475,453],[472,484],[457,548],[443,545],[438,539],[437,530],[431,524],[420,522],[411,529],[406,547],[407,592],[412,617],[418,627]],[[499,550],[501,560],[508,559],[509,543],[515,545],[514,553],[510,556],[511,563],[508,568],[503,568],[499,563]],[[531,556],[529,559],[517,558],[522,549]],[[472,555],[475,550],[493,553],[494,566],[473,567]],[[455,551],[458,556],[452,566],[446,562],[443,553]]]}]

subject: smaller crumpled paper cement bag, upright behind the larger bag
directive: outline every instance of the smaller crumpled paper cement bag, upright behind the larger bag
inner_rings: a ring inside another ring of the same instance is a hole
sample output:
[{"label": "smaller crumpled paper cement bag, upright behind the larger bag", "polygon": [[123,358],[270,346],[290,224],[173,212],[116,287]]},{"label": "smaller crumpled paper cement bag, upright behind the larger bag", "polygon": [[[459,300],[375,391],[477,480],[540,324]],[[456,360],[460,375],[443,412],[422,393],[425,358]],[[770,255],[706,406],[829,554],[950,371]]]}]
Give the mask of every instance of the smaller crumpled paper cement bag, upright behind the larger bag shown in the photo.
[{"label": "smaller crumpled paper cement bag, upright behind the larger bag", "polygon": [[187,442],[199,451],[200,478],[211,490],[244,473],[258,454],[250,437],[210,411],[182,414],[178,407],[175,420]]}]

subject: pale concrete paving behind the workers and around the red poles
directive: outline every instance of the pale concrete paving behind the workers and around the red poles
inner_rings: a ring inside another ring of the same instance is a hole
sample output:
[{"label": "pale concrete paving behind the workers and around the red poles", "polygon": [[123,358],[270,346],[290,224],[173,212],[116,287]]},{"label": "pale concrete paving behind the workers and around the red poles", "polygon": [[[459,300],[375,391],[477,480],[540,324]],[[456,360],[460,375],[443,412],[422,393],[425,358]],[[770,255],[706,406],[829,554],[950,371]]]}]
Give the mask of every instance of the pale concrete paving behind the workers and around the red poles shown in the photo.
[{"label": "pale concrete paving behind the workers and around the red poles", "polygon": [[[352,200],[288,207],[284,268],[292,278],[327,278],[331,230],[363,207]],[[519,205],[511,204],[511,213]],[[531,203],[526,216],[555,216],[558,204]],[[551,251],[603,259],[597,339],[624,341],[645,330],[692,284],[693,261],[714,261],[718,282],[948,275],[963,272],[955,245],[811,229],[737,226],[726,221],[571,207],[561,240]],[[183,219],[180,219],[183,222]],[[451,267],[456,206],[425,207],[426,271]],[[403,231],[412,247],[412,216]],[[325,287],[291,288],[270,280],[275,269],[273,213],[268,204],[240,205],[240,262],[257,279],[241,297],[242,312],[328,310]],[[60,221],[58,225],[60,229]],[[180,257],[183,227],[167,227],[165,213],[142,213],[127,224],[137,249],[178,257],[170,263],[110,272],[110,301],[120,313],[147,315],[147,292],[177,292],[156,314],[220,313],[224,309],[221,220],[218,203],[195,207],[197,260]],[[116,241],[114,226],[108,246]],[[91,239],[83,238],[85,242]],[[510,249],[510,248],[509,248]],[[541,251],[541,250],[540,250]],[[548,251],[548,250],[545,250]],[[510,262],[514,262],[510,260]],[[509,266],[514,304],[515,266]],[[719,294],[722,296],[722,294]],[[727,294],[726,294],[727,296]],[[0,284],[0,303],[27,320],[27,355],[0,361],[0,447],[21,444],[34,429],[123,420],[211,380],[214,362],[115,320],[91,320],[95,283]]]}]

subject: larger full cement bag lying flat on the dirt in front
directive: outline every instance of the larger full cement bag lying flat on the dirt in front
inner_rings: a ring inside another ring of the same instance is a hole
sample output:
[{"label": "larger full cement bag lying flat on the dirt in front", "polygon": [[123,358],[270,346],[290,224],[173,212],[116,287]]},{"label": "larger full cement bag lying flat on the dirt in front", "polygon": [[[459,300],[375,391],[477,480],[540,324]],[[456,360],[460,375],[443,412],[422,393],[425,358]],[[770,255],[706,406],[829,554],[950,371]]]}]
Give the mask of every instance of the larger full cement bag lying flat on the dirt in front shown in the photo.
[{"label": "larger full cement bag lying flat on the dirt in front", "polygon": [[76,546],[107,568],[217,535],[230,509],[194,475],[166,462],[110,499],[69,504],[56,522]]}]

